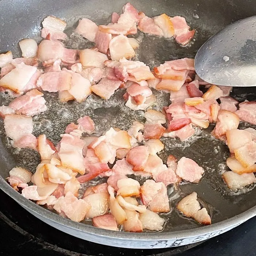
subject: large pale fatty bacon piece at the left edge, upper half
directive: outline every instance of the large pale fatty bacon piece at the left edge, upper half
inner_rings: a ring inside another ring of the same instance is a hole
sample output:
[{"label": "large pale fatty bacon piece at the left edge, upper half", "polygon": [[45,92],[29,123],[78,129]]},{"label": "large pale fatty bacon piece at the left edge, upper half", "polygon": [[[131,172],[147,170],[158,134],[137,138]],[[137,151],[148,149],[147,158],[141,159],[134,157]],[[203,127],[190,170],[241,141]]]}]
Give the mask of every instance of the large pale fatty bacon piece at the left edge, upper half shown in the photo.
[{"label": "large pale fatty bacon piece at the left edge, upper half", "polygon": [[36,67],[20,63],[0,79],[0,87],[11,89],[15,93],[21,94],[36,71]]}]

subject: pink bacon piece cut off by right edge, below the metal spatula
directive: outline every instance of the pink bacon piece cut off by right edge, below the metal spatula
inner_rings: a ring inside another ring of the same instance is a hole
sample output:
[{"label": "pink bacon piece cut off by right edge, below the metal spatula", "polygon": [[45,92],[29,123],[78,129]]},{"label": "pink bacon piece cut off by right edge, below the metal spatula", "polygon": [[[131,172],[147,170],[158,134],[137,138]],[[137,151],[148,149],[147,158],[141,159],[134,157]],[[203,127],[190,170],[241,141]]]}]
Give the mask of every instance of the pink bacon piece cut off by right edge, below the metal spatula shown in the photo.
[{"label": "pink bacon piece cut off by right edge, below the metal spatula", "polygon": [[256,101],[244,101],[240,103],[239,110],[236,111],[236,114],[242,121],[256,124]]}]

